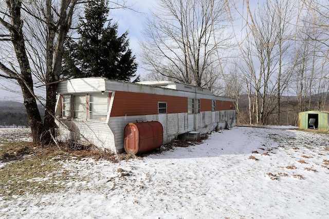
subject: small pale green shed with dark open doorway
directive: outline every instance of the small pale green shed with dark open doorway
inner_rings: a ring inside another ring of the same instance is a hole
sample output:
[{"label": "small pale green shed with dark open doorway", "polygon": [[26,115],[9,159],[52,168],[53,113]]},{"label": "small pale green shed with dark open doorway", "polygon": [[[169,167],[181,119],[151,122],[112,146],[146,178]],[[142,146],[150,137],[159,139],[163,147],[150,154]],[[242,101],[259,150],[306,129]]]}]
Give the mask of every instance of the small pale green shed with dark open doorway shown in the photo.
[{"label": "small pale green shed with dark open doorway", "polygon": [[328,111],[306,111],[299,113],[299,129],[329,131]]}]

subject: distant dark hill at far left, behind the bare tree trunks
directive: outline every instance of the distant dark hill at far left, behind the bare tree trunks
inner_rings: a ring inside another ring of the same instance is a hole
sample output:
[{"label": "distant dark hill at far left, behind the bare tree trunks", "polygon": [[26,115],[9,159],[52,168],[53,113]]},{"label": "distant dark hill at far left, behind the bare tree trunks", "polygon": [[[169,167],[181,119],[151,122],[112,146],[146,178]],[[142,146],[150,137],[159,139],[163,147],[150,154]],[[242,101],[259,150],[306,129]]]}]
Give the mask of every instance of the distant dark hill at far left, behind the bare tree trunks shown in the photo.
[{"label": "distant dark hill at far left, behind the bare tree trunks", "polygon": [[[44,110],[39,106],[41,116]],[[29,126],[25,106],[21,102],[0,101],[0,126]]]}]

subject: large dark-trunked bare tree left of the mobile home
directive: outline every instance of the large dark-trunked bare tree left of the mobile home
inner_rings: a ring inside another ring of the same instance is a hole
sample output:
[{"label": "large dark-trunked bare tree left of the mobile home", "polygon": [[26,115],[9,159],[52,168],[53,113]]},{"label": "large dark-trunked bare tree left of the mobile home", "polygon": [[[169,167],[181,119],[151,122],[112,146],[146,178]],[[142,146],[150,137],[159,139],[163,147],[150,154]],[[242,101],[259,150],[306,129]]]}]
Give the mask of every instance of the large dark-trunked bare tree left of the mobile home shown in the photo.
[{"label": "large dark-trunked bare tree left of the mobile home", "polygon": [[[16,81],[22,89],[24,105],[34,143],[54,140],[56,87],[60,80],[64,40],[79,0],[6,0],[0,2],[0,47],[6,54],[0,59],[1,77]],[[122,3],[111,2],[124,8]],[[37,85],[45,87],[45,104],[34,93]],[[37,103],[43,105],[42,120]]]}]

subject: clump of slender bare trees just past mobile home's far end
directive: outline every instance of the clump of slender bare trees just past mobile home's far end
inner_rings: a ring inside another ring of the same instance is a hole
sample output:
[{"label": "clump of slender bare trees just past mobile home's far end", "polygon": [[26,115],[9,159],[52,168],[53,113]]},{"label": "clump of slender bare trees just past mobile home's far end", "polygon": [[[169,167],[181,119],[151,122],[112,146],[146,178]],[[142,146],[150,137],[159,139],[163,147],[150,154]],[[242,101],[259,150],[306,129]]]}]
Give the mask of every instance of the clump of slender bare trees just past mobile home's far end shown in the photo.
[{"label": "clump of slender bare trees just past mobile home's far end", "polygon": [[287,0],[266,1],[252,12],[249,1],[244,3],[246,34],[240,43],[243,61],[240,70],[248,88],[249,122],[267,124],[275,118],[280,124],[281,96],[292,72],[286,63],[290,59],[288,49],[292,43],[290,32],[295,7]]}]

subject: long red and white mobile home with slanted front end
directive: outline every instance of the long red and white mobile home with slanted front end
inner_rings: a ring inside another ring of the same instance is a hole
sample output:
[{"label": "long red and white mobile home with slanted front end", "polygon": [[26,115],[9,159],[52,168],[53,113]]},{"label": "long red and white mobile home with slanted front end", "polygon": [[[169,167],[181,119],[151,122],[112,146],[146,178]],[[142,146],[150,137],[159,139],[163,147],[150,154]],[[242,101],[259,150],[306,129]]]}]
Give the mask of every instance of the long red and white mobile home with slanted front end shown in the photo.
[{"label": "long red and white mobile home with slanted front end", "polygon": [[158,121],[166,144],[180,134],[202,134],[236,122],[233,99],[175,82],[75,78],[59,83],[57,93],[59,139],[87,141],[117,153],[124,151],[129,123]]}]

